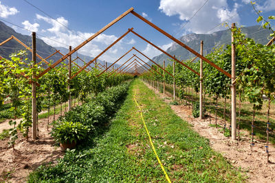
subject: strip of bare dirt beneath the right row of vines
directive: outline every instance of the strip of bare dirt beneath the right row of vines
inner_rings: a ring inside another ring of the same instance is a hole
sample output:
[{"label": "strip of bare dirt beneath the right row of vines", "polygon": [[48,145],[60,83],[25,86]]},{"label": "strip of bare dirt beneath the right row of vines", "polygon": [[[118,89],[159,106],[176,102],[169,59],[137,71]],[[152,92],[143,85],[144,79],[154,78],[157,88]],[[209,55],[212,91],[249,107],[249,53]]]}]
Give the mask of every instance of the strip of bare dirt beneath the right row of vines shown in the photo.
[{"label": "strip of bare dirt beneath the right row of vines", "polygon": [[[166,103],[172,101],[170,94],[159,93],[157,89],[146,84],[148,88],[159,95]],[[241,171],[248,175],[248,182],[275,182],[275,148],[270,145],[270,162],[267,163],[267,154],[265,152],[265,142],[256,139],[254,149],[250,149],[250,135],[247,131],[241,131],[241,141],[231,141],[230,137],[225,137],[223,132],[215,127],[210,127],[210,119],[199,120],[192,117],[192,108],[189,106],[173,106],[170,107],[175,113],[192,125],[193,130],[198,132],[201,136],[206,137],[210,141],[210,146],[215,151],[218,151],[225,157],[230,164],[236,169],[241,167]],[[214,123],[214,115],[211,118]],[[224,121],[218,120],[218,124],[223,126]]]}]

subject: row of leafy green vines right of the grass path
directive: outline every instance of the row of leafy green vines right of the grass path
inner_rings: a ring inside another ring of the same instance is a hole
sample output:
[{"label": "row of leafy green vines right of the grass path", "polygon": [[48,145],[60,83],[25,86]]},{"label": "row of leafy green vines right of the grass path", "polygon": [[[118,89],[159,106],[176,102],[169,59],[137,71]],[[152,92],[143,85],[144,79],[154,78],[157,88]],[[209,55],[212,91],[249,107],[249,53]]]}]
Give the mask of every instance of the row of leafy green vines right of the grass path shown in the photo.
[{"label": "row of leafy green vines right of the grass path", "polygon": [[[269,136],[272,134],[272,142],[274,141],[274,124],[270,122],[270,108],[271,103],[274,102],[274,92],[275,92],[275,46],[265,46],[257,44],[251,38],[245,37],[245,34],[241,33],[241,29],[232,29],[236,32],[234,35],[236,45],[236,92],[239,98],[239,109],[237,118],[237,127],[240,129],[241,123],[241,103],[249,101],[250,106],[252,106],[252,121],[250,121],[250,132],[251,132],[251,149],[254,146],[254,134],[257,132],[256,128],[263,130],[259,123],[255,124],[255,114],[257,111],[263,109],[263,105],[266,107],[266,124],[265,131],[267,133],[266,137],[266,151],[268,154],[268,143]],[[231,60],[232,60],[232,47],[231,45],[223,45],[221,47],[214,48],[211,53],[206,55],[206,58],[217,64],[223,70],[231,73]],[[170,60],[170,63],[175,62]],[[190,60],[185,60],[185,64],[190,66],[190,68],[195,71],[199,71],[199,62],[190,62]],[[162,71],[157,66],[155,69]],[[166,70],[173,73],[173,65],[166,65]],[[165,82],[168,85],[173,84],[173,77],[164,73],[164,77],[155,73],[154,75],[143,75],[143,78],[148,81]],[[181,64],[176,64],[175,66],[175,83],[179,88],[177,96],[182,100],[188,100],[190,103],[195,103],[197,105],[198,92],[199,92],[199,75],[192,73],[186,69]],[[231,78],[227,77],[223,73],[214,69],[210,64],[203,63],[203,112],[204,117],[206,117],[206,112],[211,112],[214,110],[216,113],[215,121],[217,127],[217,108],[218,100],[223,100],[224,110],[221,117],[224,119],[224,132],[230,130],[230,123],[228,123],[228,129],[226,129],[226,120],[230,121],[230,114],[226,115],[226,112],[231,112],[230,105],[227,105],[227,101],[230,102],[230,90],[231,90]],[[193,92],[191,92],[193,91]],[[266,102],[265,102],[266,100]],[[212,105],[211,105],[212,104]],[[227,110],[228,109],[228,110]],[[210,114],[211,115],[211,114]],[[247,114],[243,114],[247,115]],[[209,115],[208,115],[209,116]],[[241,126],[245,126],[244,124]],[[230,134],[230,133],[228,133]],[[240,140],[240,131],[239,140]]]}]

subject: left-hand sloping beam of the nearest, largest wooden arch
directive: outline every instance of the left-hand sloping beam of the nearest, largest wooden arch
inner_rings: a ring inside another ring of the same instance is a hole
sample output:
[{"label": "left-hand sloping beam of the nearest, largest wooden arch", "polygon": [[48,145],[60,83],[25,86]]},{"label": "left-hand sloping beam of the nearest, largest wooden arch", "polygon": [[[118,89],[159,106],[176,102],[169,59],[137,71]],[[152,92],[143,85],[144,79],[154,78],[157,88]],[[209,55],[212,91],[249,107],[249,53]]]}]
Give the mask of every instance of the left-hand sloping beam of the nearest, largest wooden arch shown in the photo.
[{"label": "left-hand sloping beam of the nearest, largest wooden arch", "polygon": [[50,71],[52,68],[54,68],[60,62],[62,62],[63,60],[65,60],[66,58],[68,58],[69,56],[71,56],[74,52],[78,51],[78,49],[80,49],[81,47],[83,47],[84,45],[86,45],[88,42],[90,42],[91,40],[93,40],[94,38],[96,38],[99,34],[101,34],[106,29],[108,29],[109,27],[111,27],[113,24],[115,24],[116,22],[118,22],[124,16],[126,16],[127,14],[129,14],[131,11],[133,11],[133,8],[130,8],[129,10],[127,10],[126,12],[124,12],[123,14],[121,14],[120,16],[118,16],[118,18],[116,18],[113,21],[111,21],[111,23],[107,24],[105,27],[103,27],[102,29],[100,29],[98,32],[96,32],[96,34],[94,34],[93,36],[89,37],[87,40],[85,40],[84,42],[82,42],[80,45],[78,45],[72,51],[69,51],[69,53],[67,53],[65,56],[63,56],[61,59],[59,59],[57,62],[55,62],[54,64],[52,64],[52,67],[48,67],[43,72],[41,72],[38,77],[41,77],[42,75],[44,75],[45,73],[47,73],[48,71]]}]

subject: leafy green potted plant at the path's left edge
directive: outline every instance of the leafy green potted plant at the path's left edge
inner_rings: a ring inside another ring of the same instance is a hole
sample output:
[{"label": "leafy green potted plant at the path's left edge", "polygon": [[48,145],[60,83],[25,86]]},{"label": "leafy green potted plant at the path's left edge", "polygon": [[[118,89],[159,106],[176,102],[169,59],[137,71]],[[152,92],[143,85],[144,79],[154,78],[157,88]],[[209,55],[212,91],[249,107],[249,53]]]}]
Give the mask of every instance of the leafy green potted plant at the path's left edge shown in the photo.
[{"label": "leafy green potted plant at the path's left edge", "polygon": [[79,122],[61,121],[57,123],[52,130],[52,136],[55,141],[60,143],[61,150],[65,151],[67,148],[73,149],[76,143],[86,138],[89,132],[89,127]]}]

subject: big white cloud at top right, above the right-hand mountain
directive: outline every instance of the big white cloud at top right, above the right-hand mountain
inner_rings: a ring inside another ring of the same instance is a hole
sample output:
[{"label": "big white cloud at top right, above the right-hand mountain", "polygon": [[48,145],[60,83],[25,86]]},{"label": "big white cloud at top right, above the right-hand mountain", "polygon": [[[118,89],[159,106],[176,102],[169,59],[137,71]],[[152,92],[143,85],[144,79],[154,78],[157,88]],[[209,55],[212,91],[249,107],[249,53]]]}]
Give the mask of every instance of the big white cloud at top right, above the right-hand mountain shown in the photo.
[{"label": "big white cloud at top right, above the right-hand mountain", "polygon": [[[195,32],[197,34],[207,33],[212,27],[219,25],[219,23],[222,23],[231,16],[233,17],[228,20],[229,23],[239,21],[237,7],[230,10],[226,0],[208,1],[203,8],[199,10],[205,2],[205,0],[161,0],[159,10],[167,16],[178,15],[181,21],[188,21],[184,28],[188,30],[188,32]],[[197,12],[198,10],[199,12]],[[196,16],[192,18],[196,12]],[[217,27],[211,32],[223,28],[224,27]]]}]

